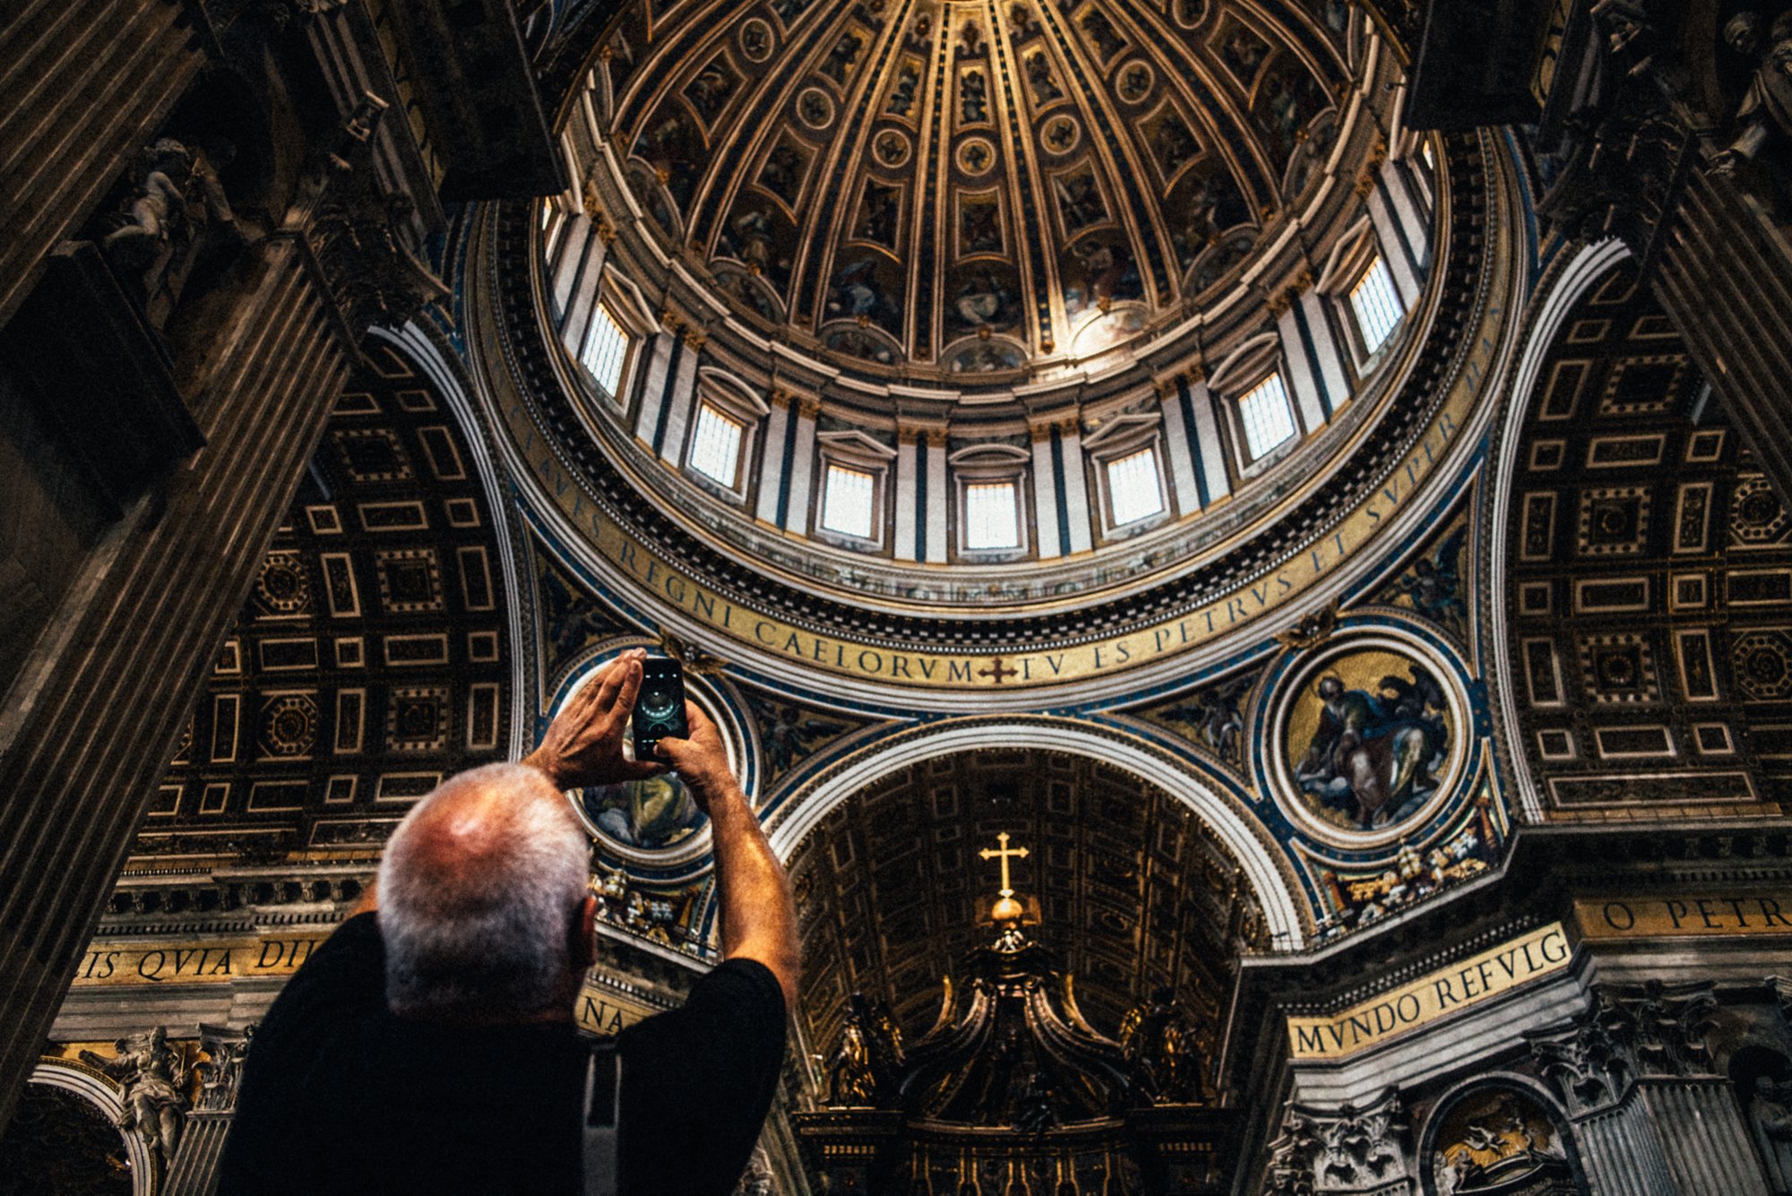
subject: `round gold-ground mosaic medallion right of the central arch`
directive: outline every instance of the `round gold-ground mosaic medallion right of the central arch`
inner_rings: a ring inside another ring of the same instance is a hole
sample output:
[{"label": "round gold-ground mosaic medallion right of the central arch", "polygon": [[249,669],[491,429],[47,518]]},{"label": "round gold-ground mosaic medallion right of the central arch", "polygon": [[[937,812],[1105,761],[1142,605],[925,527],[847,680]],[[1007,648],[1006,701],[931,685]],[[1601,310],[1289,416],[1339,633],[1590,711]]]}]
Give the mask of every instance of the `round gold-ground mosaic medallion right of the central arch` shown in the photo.
[{"label": "round gold-ground mosaic medallion right of the central arch", "polygon": [[1333,841],[1398,838],[1468,759],[1468,698],[1434,650],[1392,636],[1328,643],[1288,670],[1265,768],[1288,815]]}]

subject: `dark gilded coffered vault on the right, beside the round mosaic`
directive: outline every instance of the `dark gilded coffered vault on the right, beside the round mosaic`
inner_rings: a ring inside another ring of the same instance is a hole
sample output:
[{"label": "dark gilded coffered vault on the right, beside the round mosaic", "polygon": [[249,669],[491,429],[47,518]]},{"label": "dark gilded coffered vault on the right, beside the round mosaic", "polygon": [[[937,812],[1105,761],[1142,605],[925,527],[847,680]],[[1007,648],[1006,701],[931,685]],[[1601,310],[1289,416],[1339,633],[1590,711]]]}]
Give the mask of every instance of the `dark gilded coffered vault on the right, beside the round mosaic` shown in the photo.
[{"label": "dark gilded coffered vault on the right, beside the round mosaic", "polygon": [[1772,813],[1792,784],[1792,517],[1629,263],[1564,317],[1505,528],[1518,734],[1545,807]]}]

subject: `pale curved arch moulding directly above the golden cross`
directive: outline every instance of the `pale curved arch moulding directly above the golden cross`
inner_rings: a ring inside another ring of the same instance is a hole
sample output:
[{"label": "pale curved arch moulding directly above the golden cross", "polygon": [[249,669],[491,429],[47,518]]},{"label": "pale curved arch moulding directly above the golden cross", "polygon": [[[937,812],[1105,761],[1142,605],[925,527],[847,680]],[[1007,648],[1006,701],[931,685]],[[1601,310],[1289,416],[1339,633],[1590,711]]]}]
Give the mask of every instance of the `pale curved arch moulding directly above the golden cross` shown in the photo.
[{"label": "pale curved arch moulding directly above the golden cross", "polygon": [[1185,761],[1102,727],[1057,718],[966,718],[926,723],[882,739],[785,797],[769,816],[767,834],[780,859],[790,861],[803,838],[837,806],[900,768],[998,743],[1088,756],[1133,773],[1186,806],[1233,854],[1263,908],[1278,951],[1306,945],[1310,917],[1296,895],[1274,841],[1247,811],[1195,777]]}]

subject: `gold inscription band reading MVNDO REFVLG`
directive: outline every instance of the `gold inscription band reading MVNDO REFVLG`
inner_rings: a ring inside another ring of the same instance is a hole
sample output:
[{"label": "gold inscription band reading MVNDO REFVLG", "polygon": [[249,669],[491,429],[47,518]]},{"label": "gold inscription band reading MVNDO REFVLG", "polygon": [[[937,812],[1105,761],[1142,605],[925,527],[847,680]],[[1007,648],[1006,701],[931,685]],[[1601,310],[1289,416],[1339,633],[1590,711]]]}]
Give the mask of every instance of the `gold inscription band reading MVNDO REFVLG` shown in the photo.
[{"label": "gold inscription band reading MVNDO REFVLG", "polygon": [[1337,1017],[1290,1017],[1294,1058],[1342,1058],[1568,967],[1561,922],[1437,969]]}]

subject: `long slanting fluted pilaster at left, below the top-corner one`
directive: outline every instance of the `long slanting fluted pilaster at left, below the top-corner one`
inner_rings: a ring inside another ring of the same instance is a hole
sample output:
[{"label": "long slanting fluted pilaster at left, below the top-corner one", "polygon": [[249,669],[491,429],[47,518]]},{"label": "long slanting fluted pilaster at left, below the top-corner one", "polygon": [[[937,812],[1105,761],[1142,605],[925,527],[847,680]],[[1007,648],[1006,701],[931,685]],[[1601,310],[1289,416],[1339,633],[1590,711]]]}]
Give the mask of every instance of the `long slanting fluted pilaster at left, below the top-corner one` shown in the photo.
[{"label": "long slanting fluted pilaster at left, below the top-corner one", "polygon": [[176,355],[206,444],[116,525],[63,650],[7,711],[0,1124],[348,378],[314,263],[297,238],[269,238],[208,301]]}]

